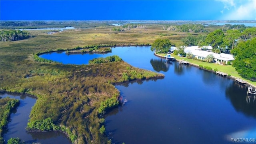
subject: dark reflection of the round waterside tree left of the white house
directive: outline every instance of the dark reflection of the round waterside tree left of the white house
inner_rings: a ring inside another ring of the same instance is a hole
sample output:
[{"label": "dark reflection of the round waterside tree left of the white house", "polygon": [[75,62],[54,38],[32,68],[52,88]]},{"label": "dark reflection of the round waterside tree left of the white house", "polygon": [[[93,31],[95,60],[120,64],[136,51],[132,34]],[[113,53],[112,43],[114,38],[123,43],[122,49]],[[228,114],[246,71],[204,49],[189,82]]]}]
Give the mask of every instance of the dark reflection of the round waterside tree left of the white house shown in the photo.
[{"label": "dark reflection of the round waterside tree left of the white house", "polygon": [[161,59],[151,59],[150,60],[150,64],[152,65],[153,69],[157,72],[163,71],[163,72],[167,72],[169,70],[169,64],[170,61],[166,61]]}]

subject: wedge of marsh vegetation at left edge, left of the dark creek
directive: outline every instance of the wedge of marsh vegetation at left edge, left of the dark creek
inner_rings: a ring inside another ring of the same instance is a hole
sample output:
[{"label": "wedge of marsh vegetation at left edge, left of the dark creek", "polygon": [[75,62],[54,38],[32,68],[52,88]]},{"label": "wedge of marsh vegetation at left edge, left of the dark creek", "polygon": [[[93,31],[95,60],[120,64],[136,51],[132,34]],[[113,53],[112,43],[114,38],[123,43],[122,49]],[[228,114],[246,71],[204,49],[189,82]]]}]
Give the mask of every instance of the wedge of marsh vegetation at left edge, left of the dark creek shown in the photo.
[{"label": "wedge of marsh vegetation at left edge, left of the dark creek", "polygon": [[3,134],[8,124],[10,114],[19,104],[20,100],[10,97],[1,98],[0,100],[0,144],[4,144]]}]

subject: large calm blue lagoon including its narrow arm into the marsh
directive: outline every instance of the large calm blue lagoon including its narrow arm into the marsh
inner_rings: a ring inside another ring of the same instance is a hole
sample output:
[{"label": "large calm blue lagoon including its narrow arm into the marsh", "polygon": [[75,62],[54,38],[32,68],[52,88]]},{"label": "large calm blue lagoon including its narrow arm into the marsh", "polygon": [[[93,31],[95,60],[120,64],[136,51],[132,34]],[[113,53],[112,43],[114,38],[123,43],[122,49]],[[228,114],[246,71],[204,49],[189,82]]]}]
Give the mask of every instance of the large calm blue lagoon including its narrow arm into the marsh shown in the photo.
[{"label": "large calm blue lagoon including its narrow arm into the marsh", "polygon": [[128,102],[106,114],[106,132],[122,144],[223,144],[256,138],[256,100],[247,88],[193,66],[166,62],[150,47],[113,48],[112,53],[51,53],[41,57],[64,64],[87,64],[118,55],[132,66],[161,72],[164,79],[116,85]]}]

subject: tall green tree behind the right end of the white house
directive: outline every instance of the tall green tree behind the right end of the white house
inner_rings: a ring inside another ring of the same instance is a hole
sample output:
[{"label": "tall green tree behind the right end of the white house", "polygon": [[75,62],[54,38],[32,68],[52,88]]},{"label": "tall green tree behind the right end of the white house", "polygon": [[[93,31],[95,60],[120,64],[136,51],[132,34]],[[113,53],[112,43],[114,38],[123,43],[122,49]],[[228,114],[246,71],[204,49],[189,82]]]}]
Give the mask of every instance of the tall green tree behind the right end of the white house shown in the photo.
[{"label": "tall green tree behind the right end of the white house", "polygon": [[223,42],[226,46],[232,46],[234,48],[235,40],[239,38],[239,30],[227,30],[227,35],[223,38]]}]

